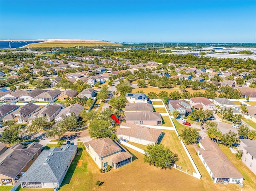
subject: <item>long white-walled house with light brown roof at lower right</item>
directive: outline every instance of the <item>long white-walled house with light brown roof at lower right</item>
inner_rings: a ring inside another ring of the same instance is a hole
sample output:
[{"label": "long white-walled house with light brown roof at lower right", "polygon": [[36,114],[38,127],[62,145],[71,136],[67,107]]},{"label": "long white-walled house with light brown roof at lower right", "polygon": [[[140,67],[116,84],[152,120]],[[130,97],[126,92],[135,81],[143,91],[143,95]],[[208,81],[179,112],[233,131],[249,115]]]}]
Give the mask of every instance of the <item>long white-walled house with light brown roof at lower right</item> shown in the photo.
[{"label": "long white-walled house with light brown roof at lower right", "polygon": [[239,183],[242,185],[243,175],[214,141],[204,138],[200,140],[199,146],[198,156],[214,183]]}]

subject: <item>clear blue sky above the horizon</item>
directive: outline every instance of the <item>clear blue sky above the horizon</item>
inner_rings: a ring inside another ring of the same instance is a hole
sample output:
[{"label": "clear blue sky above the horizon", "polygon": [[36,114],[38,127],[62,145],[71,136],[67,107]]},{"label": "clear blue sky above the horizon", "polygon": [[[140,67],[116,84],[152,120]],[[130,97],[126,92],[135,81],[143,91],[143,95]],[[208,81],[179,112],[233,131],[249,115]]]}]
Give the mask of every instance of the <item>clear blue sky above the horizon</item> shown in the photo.
[{"label": "clear blue sky above the horizon", "polygon": [[256,1],[0,0],[0,39],[256,42]]}]

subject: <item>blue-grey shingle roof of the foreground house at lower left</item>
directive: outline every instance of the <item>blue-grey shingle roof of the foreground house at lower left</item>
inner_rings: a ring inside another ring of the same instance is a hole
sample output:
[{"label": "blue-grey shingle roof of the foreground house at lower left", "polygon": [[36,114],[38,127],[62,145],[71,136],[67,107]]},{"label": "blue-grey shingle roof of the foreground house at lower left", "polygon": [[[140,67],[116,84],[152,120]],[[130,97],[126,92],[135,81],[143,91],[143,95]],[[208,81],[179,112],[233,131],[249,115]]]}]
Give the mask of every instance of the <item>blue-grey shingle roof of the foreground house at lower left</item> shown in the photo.
[{"label": "blue-grey shingle roof of the foreground house at lower left", "polygon": [[19,182],[60,182],[77,145],[43,150]]}]

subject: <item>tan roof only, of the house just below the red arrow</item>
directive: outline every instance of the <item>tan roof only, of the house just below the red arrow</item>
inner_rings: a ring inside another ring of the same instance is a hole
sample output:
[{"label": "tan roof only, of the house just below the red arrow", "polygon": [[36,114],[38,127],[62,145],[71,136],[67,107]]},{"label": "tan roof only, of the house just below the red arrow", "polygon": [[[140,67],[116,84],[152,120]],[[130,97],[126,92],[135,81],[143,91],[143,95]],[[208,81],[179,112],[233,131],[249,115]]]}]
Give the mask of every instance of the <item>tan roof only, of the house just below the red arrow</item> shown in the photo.
[{"label": "tan roof only, of the house just below the red arrow", "polygon": [[[126,123],[122,122],[122,126],[126,126]],[[129,125],[127,127],[129,127]],[[118,128],[116,133],[150,142],[156,142],[161,135],[162,130],[134,125],[130,128]]]}]

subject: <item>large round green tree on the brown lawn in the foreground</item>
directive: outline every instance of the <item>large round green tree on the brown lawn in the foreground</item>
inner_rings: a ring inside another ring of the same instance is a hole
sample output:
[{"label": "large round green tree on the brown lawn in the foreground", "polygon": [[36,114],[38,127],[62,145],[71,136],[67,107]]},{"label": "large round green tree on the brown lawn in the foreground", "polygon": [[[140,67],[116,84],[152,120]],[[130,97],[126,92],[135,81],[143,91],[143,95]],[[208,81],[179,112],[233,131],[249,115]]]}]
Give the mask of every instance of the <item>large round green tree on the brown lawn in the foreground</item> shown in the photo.
[{"label": "large round green tree on the brown lawn in the foreground", "polygon": [[145,150],[144,162],[161,169],[171,168],[178,159],[177,154],[162,144],[149,144]]}]

